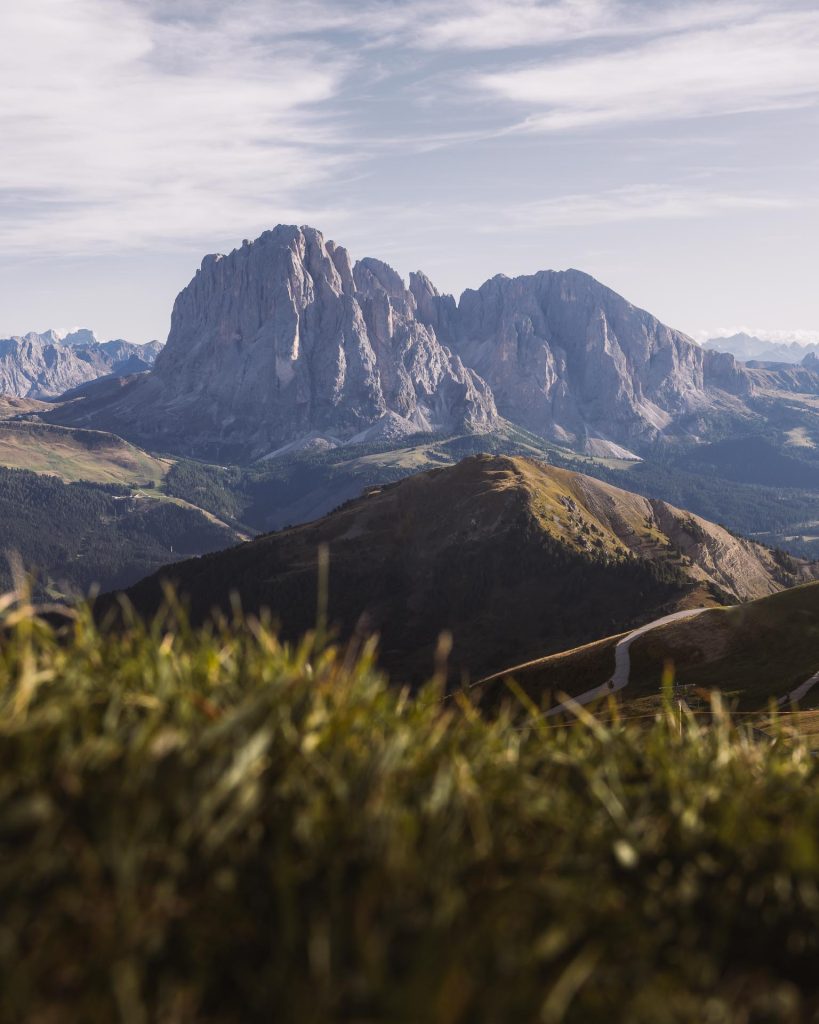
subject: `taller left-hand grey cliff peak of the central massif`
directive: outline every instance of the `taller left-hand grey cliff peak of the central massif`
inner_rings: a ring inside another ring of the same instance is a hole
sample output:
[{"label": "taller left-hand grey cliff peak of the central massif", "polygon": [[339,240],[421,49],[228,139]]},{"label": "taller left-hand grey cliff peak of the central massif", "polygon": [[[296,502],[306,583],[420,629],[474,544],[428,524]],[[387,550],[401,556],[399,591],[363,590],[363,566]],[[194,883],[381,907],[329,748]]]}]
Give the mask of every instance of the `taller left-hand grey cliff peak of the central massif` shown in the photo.
[{"label": "taller left-hand grey cliff peak of the central massif", "polygon": [[126,395],[123,412],[145,437],[247,444],[257,456],[311,432],[346,440],[495,426],[489,388],[415,313],[385,263],[353,267],[319,231],[279,226],[205,258],[176,300],[148,386]]}]

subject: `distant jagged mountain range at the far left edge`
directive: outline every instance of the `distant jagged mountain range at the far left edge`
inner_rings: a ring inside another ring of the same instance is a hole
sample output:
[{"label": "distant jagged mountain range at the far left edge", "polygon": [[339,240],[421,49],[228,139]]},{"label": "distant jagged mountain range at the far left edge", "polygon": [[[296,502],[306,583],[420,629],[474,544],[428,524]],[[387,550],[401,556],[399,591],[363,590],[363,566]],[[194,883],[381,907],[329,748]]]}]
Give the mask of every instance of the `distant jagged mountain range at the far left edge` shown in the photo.
[{"label": "distant jagged mountain range at the far left edge", "polygon": [[53,398],[100,377],[149,370],[162,345],[99,342],[91,331],[55,331],[0,339],[0,394]]}]

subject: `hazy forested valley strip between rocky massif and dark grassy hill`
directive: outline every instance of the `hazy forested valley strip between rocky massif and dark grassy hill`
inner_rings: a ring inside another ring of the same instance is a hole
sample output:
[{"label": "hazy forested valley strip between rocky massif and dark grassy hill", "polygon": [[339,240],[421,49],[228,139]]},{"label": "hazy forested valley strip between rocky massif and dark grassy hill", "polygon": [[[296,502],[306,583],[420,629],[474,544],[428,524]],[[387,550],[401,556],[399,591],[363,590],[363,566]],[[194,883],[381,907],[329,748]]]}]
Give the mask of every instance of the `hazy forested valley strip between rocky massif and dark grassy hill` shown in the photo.
[{"label": "hazy forested valley strip between rocky massif and dark grassy hill", "polygon": [[772,547],[819,558],[819,452],[786,438],[750,436],[699,447],[661,445],[642,463],[593,459],[518,428],[501,434],[410,439],[398,450],[354,445],[220,468],[179,461],[165,486],[220,518],[256,530],[327,514],[364,487],[454,465],[479,452],[541,458],[649,498],[689,509]]}]

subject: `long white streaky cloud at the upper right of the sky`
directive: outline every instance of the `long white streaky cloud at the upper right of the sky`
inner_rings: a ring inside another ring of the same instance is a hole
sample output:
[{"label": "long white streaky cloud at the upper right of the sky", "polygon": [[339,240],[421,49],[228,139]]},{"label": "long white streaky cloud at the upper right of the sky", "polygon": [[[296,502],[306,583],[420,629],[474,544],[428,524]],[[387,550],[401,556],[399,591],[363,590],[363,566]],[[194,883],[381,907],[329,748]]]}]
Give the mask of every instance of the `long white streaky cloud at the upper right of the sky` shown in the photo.
[{"label": "long white streaky cloud at the upper right of the sky", "polygon": [[789,11],[483,74],[477,84],[527,108],[521,127],[532,131],[714,117],[815,103],[818,49],[819,11]]}]

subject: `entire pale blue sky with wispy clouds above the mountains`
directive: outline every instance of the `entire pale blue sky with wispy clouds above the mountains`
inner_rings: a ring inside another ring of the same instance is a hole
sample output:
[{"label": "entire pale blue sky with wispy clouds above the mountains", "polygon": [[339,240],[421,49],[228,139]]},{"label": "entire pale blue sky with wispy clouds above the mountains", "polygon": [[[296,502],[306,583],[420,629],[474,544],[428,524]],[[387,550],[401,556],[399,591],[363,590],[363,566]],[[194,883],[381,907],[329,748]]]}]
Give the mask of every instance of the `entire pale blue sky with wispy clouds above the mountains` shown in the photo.
[{"label": "entire pale blue sky with wispy clouds above the mountains", "polygon": [[276,223],[456,295],[578,267],[819,340],[815,0],[0,5],[0,337],[164,339]]}]

